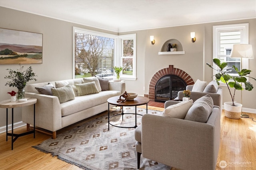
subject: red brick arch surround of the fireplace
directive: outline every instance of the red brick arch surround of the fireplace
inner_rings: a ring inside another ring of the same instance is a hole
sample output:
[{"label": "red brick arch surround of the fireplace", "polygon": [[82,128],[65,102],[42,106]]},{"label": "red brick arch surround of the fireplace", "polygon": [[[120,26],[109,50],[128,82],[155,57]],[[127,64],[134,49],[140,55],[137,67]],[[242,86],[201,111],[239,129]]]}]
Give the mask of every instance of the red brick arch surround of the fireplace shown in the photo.
[{"label": "red brick arch surround of the fireplace", "polygon": [[173,65],[169,65],[169,67],[163,68],[162,70],[159,70],[158,72],[156,72],[156,74],[154,74],[154,76],[152,77],[150,84],[149,84],[148,95],[145,95],[146,97],[148,97],[150,99],[150,101],[155,101],[156,83],[158,82],[158,80],[160,78],[162,78],[163,76],[166,76],[166,75],[179,76],[180,78],[182,78],[184,80],[184,82],[186,82],[187,85],[195,84],[194,80],[186,72],[184,72],[183,70],[180,70],[179,68],[174,68]]}]

